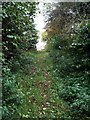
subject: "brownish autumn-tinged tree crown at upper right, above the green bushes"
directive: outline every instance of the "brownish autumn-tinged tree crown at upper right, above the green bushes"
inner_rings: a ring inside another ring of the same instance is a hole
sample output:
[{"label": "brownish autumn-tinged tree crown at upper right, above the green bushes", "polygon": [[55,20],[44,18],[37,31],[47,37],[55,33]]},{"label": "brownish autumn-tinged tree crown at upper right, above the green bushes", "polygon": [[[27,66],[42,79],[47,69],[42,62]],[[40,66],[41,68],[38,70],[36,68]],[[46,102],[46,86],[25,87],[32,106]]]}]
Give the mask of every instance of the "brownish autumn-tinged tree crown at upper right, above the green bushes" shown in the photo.
[{"label": "brownish autumn-tinged tree crown at upper right, above the green bushes", "polygon": [[89,2],[60,2],[54,4],[52,7],[55,7],[55,9],[49,13],[46,25],[46,31],[49,36],[56,34],[70,35],[82,19],[89,18]]}]

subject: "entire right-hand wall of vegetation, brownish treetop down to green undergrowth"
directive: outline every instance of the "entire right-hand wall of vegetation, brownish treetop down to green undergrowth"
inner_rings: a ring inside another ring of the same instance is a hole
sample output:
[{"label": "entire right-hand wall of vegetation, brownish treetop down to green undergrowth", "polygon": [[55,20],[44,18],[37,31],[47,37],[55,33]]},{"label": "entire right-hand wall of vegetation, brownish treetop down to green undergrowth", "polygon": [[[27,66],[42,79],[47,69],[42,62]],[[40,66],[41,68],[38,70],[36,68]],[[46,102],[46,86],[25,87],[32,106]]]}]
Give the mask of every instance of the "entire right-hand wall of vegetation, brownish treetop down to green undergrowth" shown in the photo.
[{"label": "entire right-hand wall of vegetation, brownish treetop down to green undergrowth", "polygon": [[90,117],[89,5],[89,2],[60,3],[56,11],[52,11],[47,25],[51,31],[46,26],[53,74],[58,80],[55,85],[60,99],[68,105],[68,112],[61,116],[64,120],[86,120]]}]

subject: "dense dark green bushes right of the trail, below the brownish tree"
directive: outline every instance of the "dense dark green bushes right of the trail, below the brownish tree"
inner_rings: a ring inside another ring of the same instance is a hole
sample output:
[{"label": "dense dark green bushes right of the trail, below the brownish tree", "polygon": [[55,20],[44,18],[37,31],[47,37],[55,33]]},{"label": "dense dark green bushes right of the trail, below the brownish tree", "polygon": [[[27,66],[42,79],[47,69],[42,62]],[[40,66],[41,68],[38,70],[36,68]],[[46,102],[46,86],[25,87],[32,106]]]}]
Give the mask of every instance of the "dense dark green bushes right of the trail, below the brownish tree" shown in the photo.
[{"label": "dense dark green bushes right of the trail, below the brownish tree", "polygon": [[90,21],[82,21],[71,38],[54,37],[51,44],[58,94],[69,106],[62,119],[86,120],[90,117]]}]

